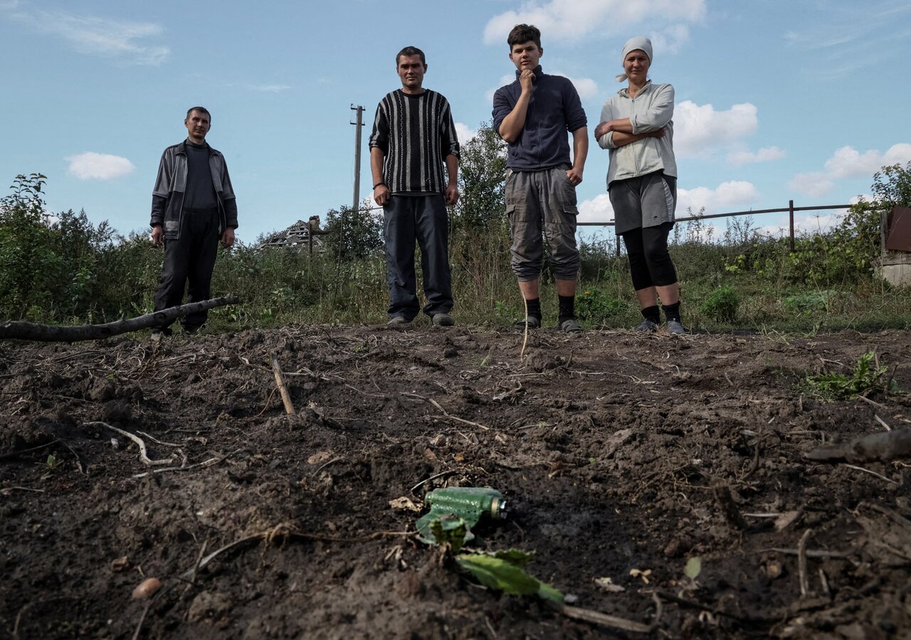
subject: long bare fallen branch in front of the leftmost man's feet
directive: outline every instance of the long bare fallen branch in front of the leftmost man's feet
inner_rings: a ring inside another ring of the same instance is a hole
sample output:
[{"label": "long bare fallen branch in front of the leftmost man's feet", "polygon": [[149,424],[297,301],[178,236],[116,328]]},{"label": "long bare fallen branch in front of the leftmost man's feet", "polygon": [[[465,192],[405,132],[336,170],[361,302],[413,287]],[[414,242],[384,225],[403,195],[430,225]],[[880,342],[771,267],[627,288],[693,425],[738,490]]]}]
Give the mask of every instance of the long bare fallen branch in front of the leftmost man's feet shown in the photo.
[{"label": "long bare fallen branch in front of the leftmost man's feet", "polygon": [[179,307],[147,313],[143,316],[138,316],[138,318],[116,320],[105,324],[58,326],[35,324],[34,322],[22,320],[7,320],[0,323],[0,340],[37,340],[42,342],[100,340],[119,335],[120,333],[128,333],[129,331],[159,327],[190,313],[236,304],[239,300],[239,298],[234,296],[201,300],[200,302],[190,302]]}]

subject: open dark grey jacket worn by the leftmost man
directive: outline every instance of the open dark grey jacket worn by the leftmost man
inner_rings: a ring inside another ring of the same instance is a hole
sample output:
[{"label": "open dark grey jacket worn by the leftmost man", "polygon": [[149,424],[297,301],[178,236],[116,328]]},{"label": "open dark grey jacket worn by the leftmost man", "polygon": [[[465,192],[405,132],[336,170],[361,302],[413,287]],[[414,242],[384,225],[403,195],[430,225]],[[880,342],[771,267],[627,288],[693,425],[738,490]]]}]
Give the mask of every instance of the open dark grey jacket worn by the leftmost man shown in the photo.
[{"label": "open dark grey jacket worn by the leftmost man", "polygon": [[[161,225],[167,240],[180,237],[183,221],[183,194],[187,190],[187,141],[165,149],[159,163],[159,176],[152,190],[152,219],[150,227]],[[219,200],[219,235],[224,229],[237,229],[237,199],[230,184],[228,165],[217,149],[209,147],[209,168],[212,185]]]}]

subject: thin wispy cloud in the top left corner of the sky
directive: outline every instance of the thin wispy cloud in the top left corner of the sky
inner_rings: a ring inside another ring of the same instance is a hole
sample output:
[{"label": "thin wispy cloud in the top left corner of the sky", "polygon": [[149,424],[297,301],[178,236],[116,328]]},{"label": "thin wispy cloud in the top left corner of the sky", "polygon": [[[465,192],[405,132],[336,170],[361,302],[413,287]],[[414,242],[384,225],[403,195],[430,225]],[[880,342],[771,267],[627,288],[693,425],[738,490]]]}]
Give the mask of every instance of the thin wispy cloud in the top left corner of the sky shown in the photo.
[{"label": "thin wispy cloud in the top left corner of the sky", "polygon": [[148,44],[162,33],[161,27],[154,23],[111,20],[64,11],[20,11],[12,17],[36,31],[62,37],[84,54],[118,57],[138,65],[160,65],[170,55],[167,46]]}]

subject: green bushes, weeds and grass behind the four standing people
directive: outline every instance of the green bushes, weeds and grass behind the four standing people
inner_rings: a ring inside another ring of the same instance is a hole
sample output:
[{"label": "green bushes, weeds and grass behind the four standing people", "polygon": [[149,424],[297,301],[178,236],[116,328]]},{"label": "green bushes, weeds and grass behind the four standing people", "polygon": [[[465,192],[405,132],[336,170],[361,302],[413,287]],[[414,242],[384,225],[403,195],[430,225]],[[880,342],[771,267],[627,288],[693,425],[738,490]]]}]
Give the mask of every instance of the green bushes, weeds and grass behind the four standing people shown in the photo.
[{"label": "green bushes, weeds and grass behind the four standing people", "polygon": [[[506,157],[489,124],[463,147],[462,197],[450,218],[455,316],[460,323],[506,325],[523,312],[509,268],[503,214]],[[0,198],[0,319],[87,323],[152,310],[162,252],[145,232],[126,237],[85,212],[50,213],[46,177],[17,176]],[[798,330],[911,327],[911,290],[875,276],[884,207],[911,206],[911,163],[874,176],[875,202],[853,206],[827,233],[788,239],[763,236],[752,218],[728,218],[713,238],[701,219],[675,226],[671,255],[683,293],[684,322],[696,330]],[[211,330],[276,327],[296,322],[380,323],[388,304],[383,220],[376,211],[328,212],[324,250],[220,249],[216,295],[240,305],[213,310]],[[584,326],[638,324],[626,257],[609,233],[580,245],[578,316]],[[419,275],[420,281],[420,275]],[[547,267],[545,324],[556,326],[557,295]]]}]

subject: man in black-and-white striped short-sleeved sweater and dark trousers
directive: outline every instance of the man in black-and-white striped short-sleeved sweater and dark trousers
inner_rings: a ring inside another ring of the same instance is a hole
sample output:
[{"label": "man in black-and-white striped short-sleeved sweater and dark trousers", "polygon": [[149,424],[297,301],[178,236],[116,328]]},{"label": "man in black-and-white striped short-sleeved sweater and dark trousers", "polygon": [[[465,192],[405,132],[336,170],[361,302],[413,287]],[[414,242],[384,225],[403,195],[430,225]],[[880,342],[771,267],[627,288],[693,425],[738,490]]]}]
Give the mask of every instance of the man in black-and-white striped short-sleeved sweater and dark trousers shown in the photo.
[{"label": "man in black-and-white striped short-sleeved sweater and dark trousers", "polygon": [[424,272],[424,312],[437,327],[455,324],[446,205],[458,200],[459,147],[445,97],[425,89],[424,52],[406,46],[395,56],[402,88],[376,107],[370,136],[374,200],[383,207],[389,324],[415,320],[415,239]]}]

